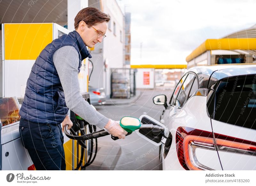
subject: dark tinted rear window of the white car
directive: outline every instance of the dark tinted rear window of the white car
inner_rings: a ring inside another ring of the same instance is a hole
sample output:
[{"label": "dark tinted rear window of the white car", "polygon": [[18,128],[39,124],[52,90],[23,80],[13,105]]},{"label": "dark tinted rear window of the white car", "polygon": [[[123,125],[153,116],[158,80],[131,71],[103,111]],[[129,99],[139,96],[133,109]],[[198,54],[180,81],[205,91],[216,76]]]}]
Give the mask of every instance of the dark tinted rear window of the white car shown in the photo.
[{"label": "dark tinted rear window of the white car", "polygon": [[256,75],[229,77],[215,92],[214,120],[256,129]]}]

